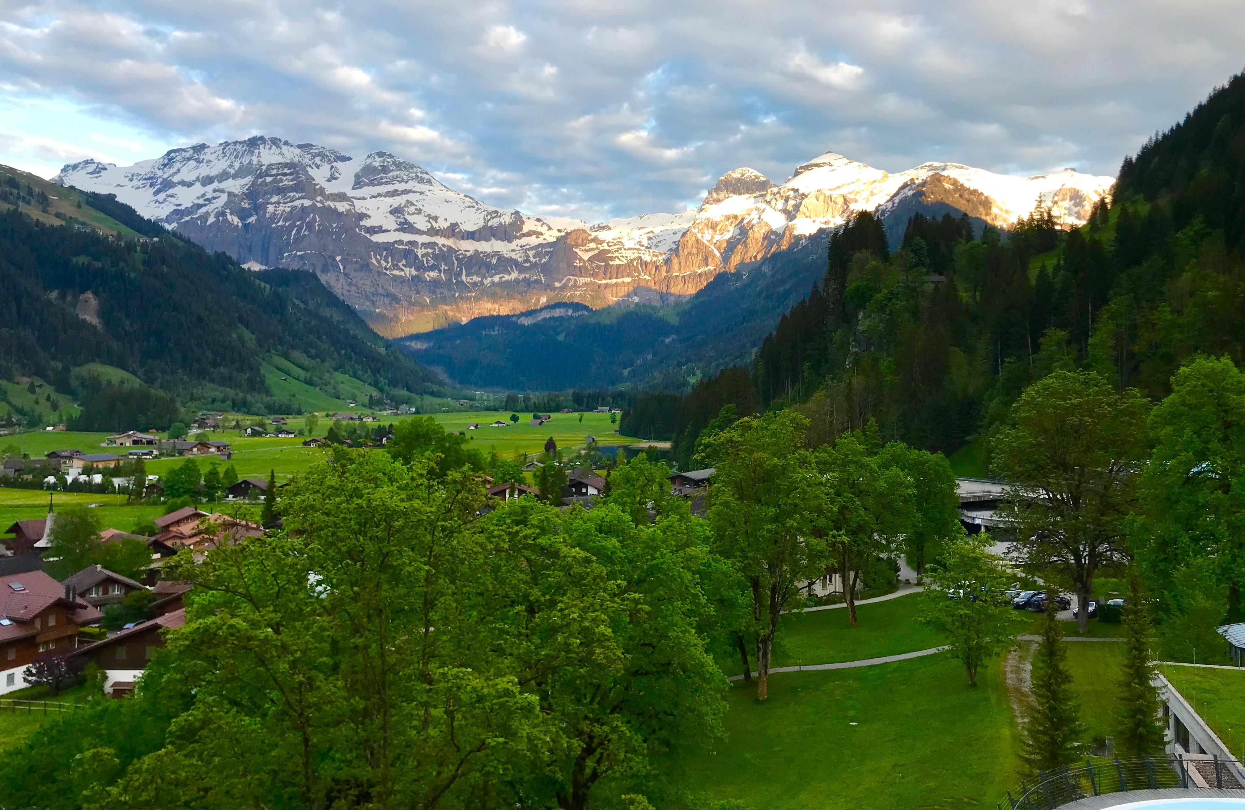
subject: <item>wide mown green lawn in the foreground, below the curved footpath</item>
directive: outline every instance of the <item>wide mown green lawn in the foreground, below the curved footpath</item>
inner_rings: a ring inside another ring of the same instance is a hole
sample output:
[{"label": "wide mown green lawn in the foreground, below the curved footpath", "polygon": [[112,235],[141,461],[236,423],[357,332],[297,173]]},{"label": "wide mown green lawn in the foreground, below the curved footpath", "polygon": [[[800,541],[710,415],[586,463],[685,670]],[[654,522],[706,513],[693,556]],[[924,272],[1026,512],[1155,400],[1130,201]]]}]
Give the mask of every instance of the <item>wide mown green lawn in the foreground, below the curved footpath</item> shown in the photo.
[{"label": "wide mown green lawn in the foreground, below the curved footpath", "polygon": [[778,674],[766,703],[742,686],[727,702],[727,738],[679,776],[698,804],[994,808],[1017,780],[1001,667],[976,688],[945,654]]}]

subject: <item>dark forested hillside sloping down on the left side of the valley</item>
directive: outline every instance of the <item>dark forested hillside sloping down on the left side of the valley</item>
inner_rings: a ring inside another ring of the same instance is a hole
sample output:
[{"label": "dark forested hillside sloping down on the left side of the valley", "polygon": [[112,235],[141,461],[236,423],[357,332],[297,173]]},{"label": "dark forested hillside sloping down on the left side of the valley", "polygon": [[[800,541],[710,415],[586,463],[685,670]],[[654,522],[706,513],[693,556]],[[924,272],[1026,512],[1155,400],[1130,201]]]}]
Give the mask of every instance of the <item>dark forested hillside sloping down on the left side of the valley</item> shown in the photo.
[{"label": "dark forested hillside sloping down on the left side of the valley", "polygon": [[[101,386],[83,391],[71,370],[103,363],[200,407],[296,409],[264,378],[263,362],[280,356],[312,381],[340,372],[395,396],[439,387],[314,275],[250,272],[115,199],[82,199],[81,221],[0,207],[0,379],[91,396]],[[107,216],[113,233],[87,215]]]}]

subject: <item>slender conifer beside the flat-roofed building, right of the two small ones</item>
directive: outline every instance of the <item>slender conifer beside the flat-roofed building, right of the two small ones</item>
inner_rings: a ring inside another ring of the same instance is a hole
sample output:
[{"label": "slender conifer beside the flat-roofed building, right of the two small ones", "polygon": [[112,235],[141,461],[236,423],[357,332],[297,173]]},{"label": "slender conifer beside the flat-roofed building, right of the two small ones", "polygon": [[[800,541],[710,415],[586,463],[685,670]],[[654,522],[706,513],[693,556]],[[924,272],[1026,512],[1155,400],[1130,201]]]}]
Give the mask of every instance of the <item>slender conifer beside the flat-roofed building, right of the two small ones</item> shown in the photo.
[{"label": "slender conifer beside the flat-roofed building, right of the two small ones", "polygon": [[1128,601],[1124,603],[1124,671],[1119,681],[1117,742],[1129,754],[1162,753],[1165,729],[1159,719],[1163,705],[1154,686],[1154,659],[1150,657],[1150,610],[1142,592],[1142,577],[1132,571]]}]

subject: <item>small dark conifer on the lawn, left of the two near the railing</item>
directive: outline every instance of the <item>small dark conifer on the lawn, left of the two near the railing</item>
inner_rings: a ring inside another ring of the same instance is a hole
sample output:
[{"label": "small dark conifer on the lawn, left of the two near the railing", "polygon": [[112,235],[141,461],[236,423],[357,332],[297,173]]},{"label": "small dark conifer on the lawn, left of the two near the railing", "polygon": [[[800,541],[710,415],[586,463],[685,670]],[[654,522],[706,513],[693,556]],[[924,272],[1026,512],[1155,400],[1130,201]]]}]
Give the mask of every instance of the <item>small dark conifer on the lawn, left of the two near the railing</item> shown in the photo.
[{"label": "small dark conifer on the lawn, left of the two near the railing", "polygon": [[1084,732],[1081,707],[1072,696],[1063,631],[1056,620],[1058,594],[1047,590],[1042,638],[1033,657],[1032,698],[1025,725],[1025,759],[1036,771],[1067,765],[1077,758],[1077,743]]}]

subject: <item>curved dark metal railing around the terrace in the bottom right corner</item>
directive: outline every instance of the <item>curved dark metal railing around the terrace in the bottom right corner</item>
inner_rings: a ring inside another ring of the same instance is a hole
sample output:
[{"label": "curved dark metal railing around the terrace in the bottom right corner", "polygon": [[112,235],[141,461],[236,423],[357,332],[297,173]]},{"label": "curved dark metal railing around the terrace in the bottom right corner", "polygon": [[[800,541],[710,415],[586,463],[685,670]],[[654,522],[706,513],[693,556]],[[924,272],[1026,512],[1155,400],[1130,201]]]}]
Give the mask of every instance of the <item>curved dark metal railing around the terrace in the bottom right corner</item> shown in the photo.
[{"label": "curved dark metal railing around the terrace in the bottom right corner", "polygon": [[[1086,760],[1038,774],[1032,783],[1007,791],[1000,810],[1055,810],[1061,805],[1104,793],[1159,788],[1241,788],[1239,760],[1190,759],[1180,754],[1135,759]],[[1194,775],[1196,774],[1196,775]]]}]

